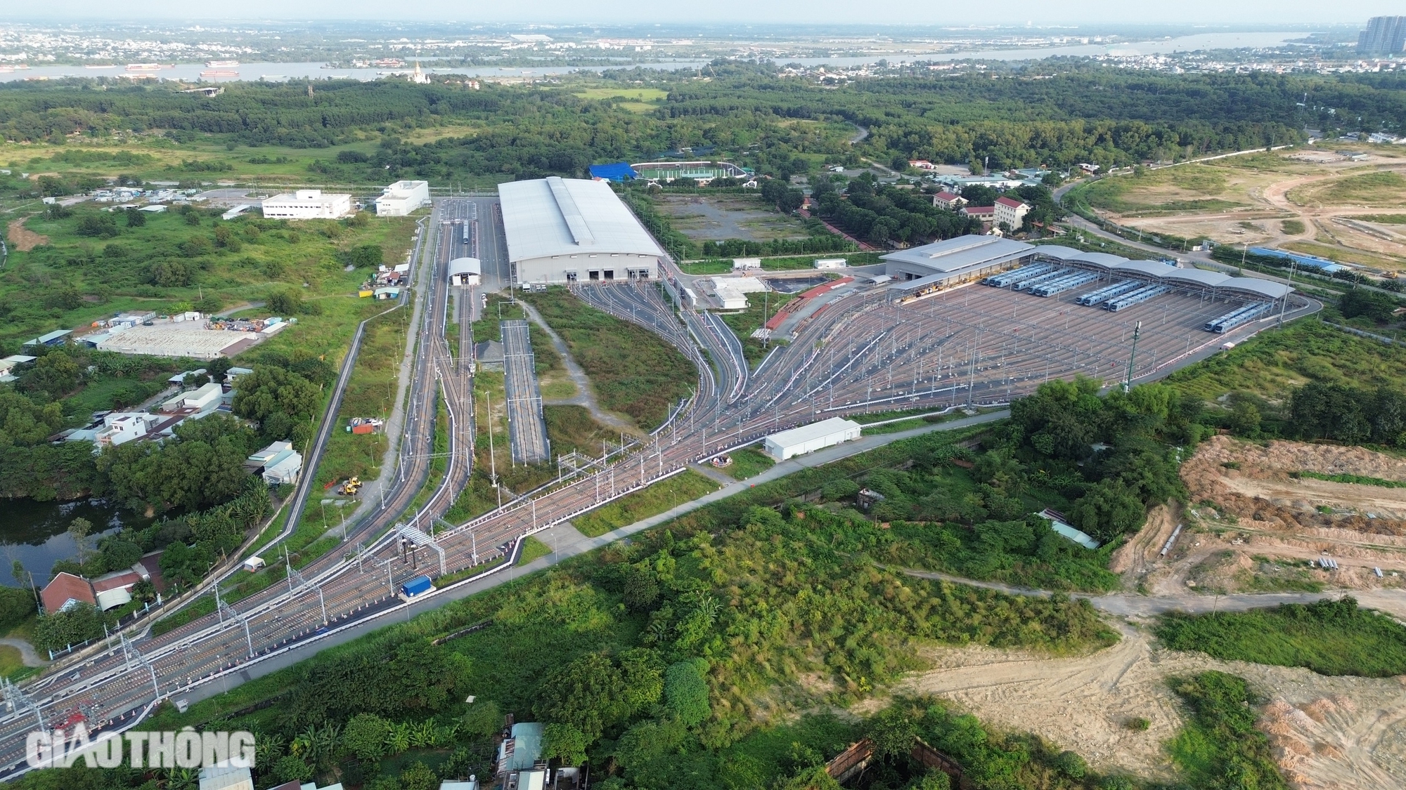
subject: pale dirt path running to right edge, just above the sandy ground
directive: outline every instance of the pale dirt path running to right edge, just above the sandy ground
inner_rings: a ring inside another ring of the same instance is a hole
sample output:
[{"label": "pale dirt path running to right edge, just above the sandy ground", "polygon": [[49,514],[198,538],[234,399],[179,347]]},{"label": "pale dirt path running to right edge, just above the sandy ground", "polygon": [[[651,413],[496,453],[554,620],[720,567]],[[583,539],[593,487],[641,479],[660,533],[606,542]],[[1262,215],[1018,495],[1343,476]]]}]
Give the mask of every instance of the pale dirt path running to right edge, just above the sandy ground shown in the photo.
[{"label": "pale dirt path running to right edge, just above the sandy ground", "polygon": [[[983,588],[988,590],[1001,592],[1005,595],[1022,595],[1033,597],[1049,597],[1050,590],[1040,590],[1032,588],[1021,588],[1015,585],[1002,585],[1000,582],[979,582],[976,579],[965,579],[962,576],[953,576],[950,574],[939,574],[936,571],[915,571],[912,568],[896,568],[910,576],[920,579],[941,579],[943,582],[952,582],[956,585],[966,585],[969,588]],[[1334,590],[1323,593],[1230,593],[1230,595],[1205,595],[1205,593],[1184,593],[1184,595],[1168,595],[1168,596],[1146,596],[1136,593],[1070,593],[1070,597],[1081,597],[1099,611],[1107,611],[1109,614],[1121,616],[1140,616],[1147,617],[1153,614],[1161,614],[1164,611],[1244,611],[1247,609],[1263,609],[1265,606],[1278,606],[1281,603],[1313,603],[1315,600],[1323,599],[1339,599],[1344,595],[1353,595],[1364,606],[1372,609],[1379,609],[1382,611],[1389,611],[1396,616],[1406,616],[1406,590],[1398,589],[1378,589],[1378,590]]]}]

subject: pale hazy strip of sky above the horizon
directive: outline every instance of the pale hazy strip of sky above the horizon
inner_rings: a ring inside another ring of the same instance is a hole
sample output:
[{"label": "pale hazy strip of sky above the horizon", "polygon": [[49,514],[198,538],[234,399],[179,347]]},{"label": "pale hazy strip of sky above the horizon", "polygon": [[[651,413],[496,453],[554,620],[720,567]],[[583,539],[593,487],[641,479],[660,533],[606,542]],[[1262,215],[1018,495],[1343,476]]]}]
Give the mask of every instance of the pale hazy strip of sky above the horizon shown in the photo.
[{"label": "pale hazy strip of sky above the horizon", "polygon": [[879,22],[879,24],[1277,24],[1362,22],[1381,14],[1406,11],[1400,4],[1339,0],[48,0],[27,4],[8,0],[0,21],[55,20],[453,20],[538,22]]}]

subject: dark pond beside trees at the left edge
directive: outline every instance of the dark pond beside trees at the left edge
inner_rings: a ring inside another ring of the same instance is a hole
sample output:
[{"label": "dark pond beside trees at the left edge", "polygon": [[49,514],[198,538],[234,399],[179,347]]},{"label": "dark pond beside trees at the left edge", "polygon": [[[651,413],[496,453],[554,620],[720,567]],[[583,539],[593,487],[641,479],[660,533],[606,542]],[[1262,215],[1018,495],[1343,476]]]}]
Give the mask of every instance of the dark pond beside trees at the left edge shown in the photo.
[{"label": "dark pond beside trees at the left edge", "polygon": [[75,499],[72,502],[35,502],[34,499],[8,499],[0,503],[0,583],[20,586],[10,574],[10,566],[18,559],[24,569],[34,574],[34,581],[44,586],[49,581],[49,569],[59,559],[76,559],[77,547],[69,536],[73,519],[87,519],[93,523],[89,537],[111,534],[124,526],[145,526],[146,519],[131,510],[103,499]]}]

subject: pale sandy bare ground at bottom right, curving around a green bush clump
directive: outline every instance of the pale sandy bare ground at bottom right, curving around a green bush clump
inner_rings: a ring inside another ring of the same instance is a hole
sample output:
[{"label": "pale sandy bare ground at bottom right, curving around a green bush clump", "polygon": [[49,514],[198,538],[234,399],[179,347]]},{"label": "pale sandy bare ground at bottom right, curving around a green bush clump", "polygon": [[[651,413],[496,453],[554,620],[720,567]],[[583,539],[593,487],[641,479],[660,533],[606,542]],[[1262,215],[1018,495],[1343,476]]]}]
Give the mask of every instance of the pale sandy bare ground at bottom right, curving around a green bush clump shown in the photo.
[{"label": "pale sandy bare ground at bottom right, curving around a green bush clump", "polygon": [[[1163,748],[1182,724],[1167,678],[1220,669],[1246,678],[1268,704],[1260,727],[1299,789],[1406,787],[1406,683],[1327,678],[1308,669],[1213,661],[1167,651],[1143,631],[1080,658],[993,648],[934,648],[932,669],[901,692],[949,699],[998,727],[1076,749],[1098,770],[1171,780]],[[1149,720],[1146,731],[1128,721]]]}]

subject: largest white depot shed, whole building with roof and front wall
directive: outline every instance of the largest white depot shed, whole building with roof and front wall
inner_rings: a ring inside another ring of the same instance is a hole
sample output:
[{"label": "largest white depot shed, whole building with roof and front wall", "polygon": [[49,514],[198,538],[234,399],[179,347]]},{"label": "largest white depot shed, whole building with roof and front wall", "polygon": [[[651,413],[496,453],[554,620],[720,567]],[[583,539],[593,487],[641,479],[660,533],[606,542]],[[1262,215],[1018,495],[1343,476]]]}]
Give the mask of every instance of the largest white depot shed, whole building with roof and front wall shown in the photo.
[{"label": "largest white depot shed, whole building with roof and front wall", "polygon": [[664,250],[606,181],[498,184],[513,281],[654,280]]}]

